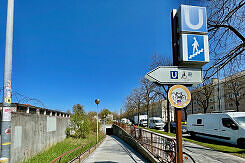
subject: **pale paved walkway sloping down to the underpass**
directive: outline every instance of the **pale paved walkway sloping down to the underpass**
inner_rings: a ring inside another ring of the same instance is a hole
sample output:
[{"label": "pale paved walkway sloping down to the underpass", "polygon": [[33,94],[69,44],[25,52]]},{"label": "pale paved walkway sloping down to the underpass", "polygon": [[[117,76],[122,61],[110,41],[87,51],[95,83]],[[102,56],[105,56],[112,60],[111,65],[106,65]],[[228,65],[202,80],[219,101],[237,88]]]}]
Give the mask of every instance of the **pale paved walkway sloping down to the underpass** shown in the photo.
[{"label": "pale paved walkway sloping down to the underpass", "polygon": [[104,142],[84,163],[144,163],[140,154],[116,136],[106,136]]}]

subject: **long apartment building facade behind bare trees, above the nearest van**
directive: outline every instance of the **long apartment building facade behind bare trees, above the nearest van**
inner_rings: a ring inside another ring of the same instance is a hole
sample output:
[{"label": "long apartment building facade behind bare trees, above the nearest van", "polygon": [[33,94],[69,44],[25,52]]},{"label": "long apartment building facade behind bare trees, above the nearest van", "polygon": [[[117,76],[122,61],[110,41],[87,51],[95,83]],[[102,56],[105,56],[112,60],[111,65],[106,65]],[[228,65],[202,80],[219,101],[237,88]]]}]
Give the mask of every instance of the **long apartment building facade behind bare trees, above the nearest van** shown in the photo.
[{"label": "long apartment building facade behind bare trees, above the nearest van", "polygon": [[[223,79],[212,79],[211,83],[191,90],[192,100],[186,113],[196,114],[224,111],[245,112],[245,71]],[[195,98],[196,97],[196,98]],[[182,119],[184,118],[184,111]]]}]

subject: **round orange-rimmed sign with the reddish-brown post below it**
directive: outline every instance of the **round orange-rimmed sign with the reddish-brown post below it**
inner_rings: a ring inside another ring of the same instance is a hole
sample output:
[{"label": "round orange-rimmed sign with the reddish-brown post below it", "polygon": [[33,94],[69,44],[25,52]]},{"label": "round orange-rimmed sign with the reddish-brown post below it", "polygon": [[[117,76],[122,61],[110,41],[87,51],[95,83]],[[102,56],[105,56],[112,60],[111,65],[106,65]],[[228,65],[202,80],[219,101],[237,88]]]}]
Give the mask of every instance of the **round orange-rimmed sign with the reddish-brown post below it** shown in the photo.
[{"label": "round orange-rimmed sign with the reddish-brown post below it", "polygon": [[182,128],[181,128],[181,108],[186,107],[191,101],[190,91],[183,85],[174,85],[168,92],[169,102],[176,108],[177,117],[177,162],[183,162],[183,149],[182,149]]}]

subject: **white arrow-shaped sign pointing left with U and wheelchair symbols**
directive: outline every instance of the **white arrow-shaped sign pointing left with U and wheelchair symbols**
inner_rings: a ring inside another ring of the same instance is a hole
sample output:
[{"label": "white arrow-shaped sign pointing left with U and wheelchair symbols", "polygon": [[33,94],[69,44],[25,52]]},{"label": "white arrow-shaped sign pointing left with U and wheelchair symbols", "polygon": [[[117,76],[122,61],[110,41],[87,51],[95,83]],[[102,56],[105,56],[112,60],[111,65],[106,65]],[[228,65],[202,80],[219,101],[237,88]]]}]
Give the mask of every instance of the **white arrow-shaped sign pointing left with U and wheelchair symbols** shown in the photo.
[{"label": "white arrow-shaped sign pointing left with U and wheelchair symbols", "polygon": [[202,83],[202,69],[159,66],[148,72],[145,78],[159,84],[198,84]]}]

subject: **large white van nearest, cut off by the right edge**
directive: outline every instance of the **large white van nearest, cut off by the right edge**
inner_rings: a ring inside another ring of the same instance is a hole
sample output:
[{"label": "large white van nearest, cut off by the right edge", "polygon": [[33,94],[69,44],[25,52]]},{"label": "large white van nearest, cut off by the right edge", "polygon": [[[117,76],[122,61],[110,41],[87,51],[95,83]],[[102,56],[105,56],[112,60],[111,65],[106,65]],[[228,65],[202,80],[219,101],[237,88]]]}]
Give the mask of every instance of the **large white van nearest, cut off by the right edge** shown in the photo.
[{"label": "large white van nearest, cut off by the right edge", "polygon": [[245,147],[245,112],[188,115],[187,130],[192,136]]}]

